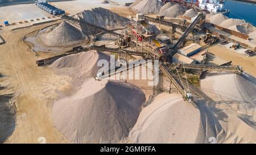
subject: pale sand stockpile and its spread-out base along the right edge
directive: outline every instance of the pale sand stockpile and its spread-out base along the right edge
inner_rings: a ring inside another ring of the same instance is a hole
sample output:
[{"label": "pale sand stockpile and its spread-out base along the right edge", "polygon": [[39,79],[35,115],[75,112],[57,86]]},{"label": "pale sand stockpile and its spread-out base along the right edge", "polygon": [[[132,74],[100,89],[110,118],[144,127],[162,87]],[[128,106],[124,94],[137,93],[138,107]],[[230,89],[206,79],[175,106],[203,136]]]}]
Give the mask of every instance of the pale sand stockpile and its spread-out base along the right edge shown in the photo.
[{"label": "pale sand stockpile and its spread-out base along the right edge", "polygon": [[256,143],[256,79],[249,74],[207,74],[201,90],[225,131],[221,143]]}]

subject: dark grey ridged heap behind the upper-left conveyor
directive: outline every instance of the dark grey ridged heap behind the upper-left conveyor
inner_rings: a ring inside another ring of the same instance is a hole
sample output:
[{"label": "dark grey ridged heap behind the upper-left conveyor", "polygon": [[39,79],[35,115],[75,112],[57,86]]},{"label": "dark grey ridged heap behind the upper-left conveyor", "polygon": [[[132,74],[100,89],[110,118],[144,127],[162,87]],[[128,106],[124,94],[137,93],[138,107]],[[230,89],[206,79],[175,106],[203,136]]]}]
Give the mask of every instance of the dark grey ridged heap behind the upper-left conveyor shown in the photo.
[{"label": "dark grey ridged heap behind the upper-left conveyor", "polygon": [[100,27],[123,27],[129,19],[119,16],[118,14],[104,9],[102,7],[96,7],[92,10],[84,10],[75,15],[75,18],[84,20],[85,22],[96,24]]}]

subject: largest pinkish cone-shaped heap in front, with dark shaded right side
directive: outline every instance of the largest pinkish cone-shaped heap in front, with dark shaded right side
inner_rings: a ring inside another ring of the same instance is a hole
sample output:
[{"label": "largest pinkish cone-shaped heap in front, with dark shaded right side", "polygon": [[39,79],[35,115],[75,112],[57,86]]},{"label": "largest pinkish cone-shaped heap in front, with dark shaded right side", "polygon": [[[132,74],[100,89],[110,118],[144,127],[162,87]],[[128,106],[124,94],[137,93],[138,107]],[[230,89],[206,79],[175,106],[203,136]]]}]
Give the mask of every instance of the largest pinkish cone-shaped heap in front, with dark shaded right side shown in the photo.
[{"label": "largest pinkish cone-shaped heap in front, with dark shaded right side", "polygon": [[136,123],[144,100],[134,85],[91,78],[53,104],[53,122],[74,143],[118,143]]}]

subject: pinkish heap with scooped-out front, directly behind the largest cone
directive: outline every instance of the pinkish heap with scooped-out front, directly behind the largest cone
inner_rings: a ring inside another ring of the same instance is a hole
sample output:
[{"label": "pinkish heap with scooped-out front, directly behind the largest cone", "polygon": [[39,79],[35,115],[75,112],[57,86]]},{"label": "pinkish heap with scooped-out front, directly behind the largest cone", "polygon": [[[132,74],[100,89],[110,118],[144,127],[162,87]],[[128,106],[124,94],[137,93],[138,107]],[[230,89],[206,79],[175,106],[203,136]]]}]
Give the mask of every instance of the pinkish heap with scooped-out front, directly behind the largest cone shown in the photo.
[{"label": "pinkish heap with scooped-out front, directly behind the largest cone", "polygon": [[[101,66],[97,66],[99,60],[110,60],[109,55],[95,50],[68,55],[57,59],[51,65],[52,68],[66,69],[72,77],[93,77]],[[69,72],[72,71],[72,72]],[[62,70],[60,70],[62,72]],[[64,73],[66,74],[66,73]]]}]

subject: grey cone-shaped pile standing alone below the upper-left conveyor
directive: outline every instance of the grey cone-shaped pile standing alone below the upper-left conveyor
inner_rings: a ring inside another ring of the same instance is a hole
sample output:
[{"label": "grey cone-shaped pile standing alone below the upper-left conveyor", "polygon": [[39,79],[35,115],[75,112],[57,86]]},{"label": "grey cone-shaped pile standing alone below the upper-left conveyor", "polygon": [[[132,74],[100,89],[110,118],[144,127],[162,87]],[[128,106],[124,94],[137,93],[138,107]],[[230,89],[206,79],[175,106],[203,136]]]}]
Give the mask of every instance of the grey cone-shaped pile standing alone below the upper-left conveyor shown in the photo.
[{"label": "grey cone-shaped pile standing alone below the upper-left conveyor", "polygon": [[40,37],[44,44],[49,46],[70,45],[87,38],[84,33],[65,21],[54,27],[52,31],[44,32]]}]

